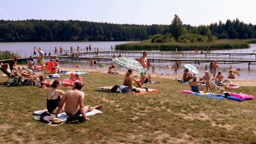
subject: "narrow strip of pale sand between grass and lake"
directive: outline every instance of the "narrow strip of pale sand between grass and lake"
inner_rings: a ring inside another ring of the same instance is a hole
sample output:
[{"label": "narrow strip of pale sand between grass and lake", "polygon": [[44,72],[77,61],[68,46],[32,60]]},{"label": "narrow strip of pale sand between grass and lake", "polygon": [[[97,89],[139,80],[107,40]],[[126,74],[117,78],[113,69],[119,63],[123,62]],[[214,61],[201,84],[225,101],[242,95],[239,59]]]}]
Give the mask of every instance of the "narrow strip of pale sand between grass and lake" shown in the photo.
[{"label": "narrow strip of pale sand between grass and lake", "polygon": [[[107,73],[106,70],[102,69],[89,69],[89,68],[70,68],[70,67],[61,67],[62,70],[67,70],[67,71],[83,71],[83,72],[97,72],[97,73]],[[151,72],[151,71],[150,71]],[[126,71],[118,71],[119,75],[125,75]],[[160,74],[154,74],[154,73],[149,73],[154,81],[154,78],[169,78],[169,79],[182,79],[182,75],[160,75]],[[139,75],[137,71],[134,71],[134,75]],[[256,81],[255,80],[249,80],[249,79],[229,79],[229,78],[224,78],[224,80],[227,79],[230,81],[232,84],[236,84],[238,86],[256,86]],[[228,85],[229,83],[223,83]]]}]

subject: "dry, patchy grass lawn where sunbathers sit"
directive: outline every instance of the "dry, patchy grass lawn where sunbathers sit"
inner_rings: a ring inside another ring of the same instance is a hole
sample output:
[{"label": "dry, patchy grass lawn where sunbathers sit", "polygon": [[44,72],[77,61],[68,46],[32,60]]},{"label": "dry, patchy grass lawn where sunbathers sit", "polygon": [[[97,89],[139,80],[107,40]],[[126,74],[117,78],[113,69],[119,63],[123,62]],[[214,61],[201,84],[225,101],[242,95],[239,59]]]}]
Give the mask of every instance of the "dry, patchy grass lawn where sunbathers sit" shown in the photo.
[{"label": "dry, patchy grass lawn where sunbathers sit", "polygon": [[[7,87],[7,78],[1,77],[0,143],[256,143],[255,100],[198,97],[181,93],[189,85],[161,78],[154,78],[160,84],[146,85],[161,93],[114,93],[96,87],[122,84],[124,75],[81,76],[86,83],[85,105],[102,104],[103,114],[89,116],[90,121],[82,124],[60,126],[32,119],[33,111],[46,109],[49,89]],[[233,91],[256,96],[255,87]]]}]

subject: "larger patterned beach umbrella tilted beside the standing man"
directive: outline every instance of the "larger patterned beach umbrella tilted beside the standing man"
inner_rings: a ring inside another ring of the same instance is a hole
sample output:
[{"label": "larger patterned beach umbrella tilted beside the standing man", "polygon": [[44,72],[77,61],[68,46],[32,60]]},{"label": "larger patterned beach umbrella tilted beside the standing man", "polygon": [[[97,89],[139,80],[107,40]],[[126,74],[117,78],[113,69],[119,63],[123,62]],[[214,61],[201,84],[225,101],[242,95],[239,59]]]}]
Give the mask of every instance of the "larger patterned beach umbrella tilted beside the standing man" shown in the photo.
[{"label": "larger patterned beach umbrella tilted beside the standing man", "polygon": [[143,68],[140,65],[140,62],[137,60],[134,60],[132,58],[128,58],[128,57],[116,57],[112,59],[113,63],[115,63],[116,65],[119,65],[121,67],[125,67],[127,69],[132,69],[138,72],[144,72],[146,71],[145,68]]}]

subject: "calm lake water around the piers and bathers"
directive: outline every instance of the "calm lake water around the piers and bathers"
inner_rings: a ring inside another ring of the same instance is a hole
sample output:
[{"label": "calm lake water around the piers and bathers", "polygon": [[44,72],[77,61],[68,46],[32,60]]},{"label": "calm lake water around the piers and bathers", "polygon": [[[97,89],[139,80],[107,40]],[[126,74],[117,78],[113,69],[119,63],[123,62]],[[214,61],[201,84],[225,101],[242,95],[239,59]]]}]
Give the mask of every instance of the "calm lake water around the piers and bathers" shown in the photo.
[{"label": "calm lake water around the piers and bathers", "polygon": [[[12,51],[15,53],[18,53],[19,55],[21,55],[22,57],[29,57],[30,54],[33,54],[33,49],[34,47],[41,47],[41,49],[46,52],[47,54],[49,52],[52,53],[52,55],[54,54],[54,47],[56,46],[59,52],[59,48],[60,46],[63,47],[63,50],[65,51],[70,51],[70,47],[73,46],[73,51],[75,51],[76,53],[76,47],[77,45],[79,46],[79,51],[80,52],[85,52],[85,47],[89,46],[91,44],[92,46],[92,51],[94,52],[98,47],[100,51],[111,51],[111,45],[113,45],[113,50],[115,51],[115,45],[116,44],[123,44],[123,43],[133,43],[133,42],[25,42],[25,43],[0,43],[0,51]],[[249,49],[239,49],[239,50],[218,50],[218,51],[214,51],[213,53],[253,53],[253,50],[256,49],[256,44],[251,44],[251,47]],[[143,52],[143,51],[138,51],[138,52]],[[162,51],[150,51],[150,52],[162,52]],[[164,52],[168,52],[168,51],[164,51]],[[171,52],[171,51],[169,51]],[[173,51],[172,51],[173,52]],[[193,53],[194,51],[180,51],[180,52],[186,52],[186,53]],[[38,55],[38,52],[37,52]],[[125,55],[124,55],[125,56]],[[127,56],[127,55],[126,55]],[[158,55],[159,57],[161,57],[162,59],[170,59],[169,57],[163,57]],[[158,57],[157,55],[154,55],[154,57]],[[82,56],[83,57],[83,56]],[[86,55],[86,57],[93,57],[93,55]],[[111,57],[111,55],[105,55],[105,57]],[[135,54],[132,55],[131,57],[133,58],[137,58],[140,57],[140,54]],[[150,58],[151,55],[148,55],[148,58]],[[190,57],[190,58],[189,58]],[[223,57],[225,56],[218,56],[218,57],[214,57],[211,56],[211,58],[205,58],[202,56],[188,56],[187,58],[189,59],[223,59]],[[227,57],[227,56],[226,56]],[[255,56],[254,56],[255,57]],[[233,57],[233,59],[253,59],[255,60],[255,58],[251,58],[251,56],[239,56],[239,57]],[[74,67],[74,63],[77,63],[80,67],[84,67],[84,68],[90,68],[90,63],[87,60],[80,60],[80,61],[71,61],[71,60],[61,60],[60,64],[64,67]],[[99,67],[97,66],[97,69],[105,69],[107,72],[108,66],[110,66],[111,61],[100,61],[100,63],[105,64],[105,67]],[[174,73],[173,69],[166,69],[166,66],[172,66],[174,63],[173,62],[151,62],[150,65],[152,66],[153,64],[155,64],[155,73],[157,74],[170,74],[172,75]],[[183,74],[183,65],[185,65],[186,63],[181,63],[181,68],[178,70],[178,75],[182,75]],[[197,63],[190,63],[191,65],[195,66],[198,71],[199,74],[197,74],[198,76],[203,76],[204,75],[204,71],[205,71],[205,65],[209,66],[210,63],[200,63],[200,65],[198,65]],[[152,73],[151,72],[151,66],[150,69],[148,71],[148,73]],[[238,79],[256,79],[256,65],[250,65],[250,69],[248,68],[248,63],[238,63],[238,64],[233,64],[232,65],[233,68],[240,68],[241,70],[239,71],[238,74],[235,74],[236,78]],[[125,71],[125,68],[116,66],[117,70],[122,70]],[[75,67],[74,67],[75,68]],[[223,76],[225,78],[227,78],[228,76],[228,68],[229,68],[229,64],[219,64],[219,69]],[[208,68],[208,70],[210,70]],[[136,73],[135,73],[136,74]],[[193,73],[192,73],[193,74]],[[211,72],[211,76],[212,76],[212,72]]]}]

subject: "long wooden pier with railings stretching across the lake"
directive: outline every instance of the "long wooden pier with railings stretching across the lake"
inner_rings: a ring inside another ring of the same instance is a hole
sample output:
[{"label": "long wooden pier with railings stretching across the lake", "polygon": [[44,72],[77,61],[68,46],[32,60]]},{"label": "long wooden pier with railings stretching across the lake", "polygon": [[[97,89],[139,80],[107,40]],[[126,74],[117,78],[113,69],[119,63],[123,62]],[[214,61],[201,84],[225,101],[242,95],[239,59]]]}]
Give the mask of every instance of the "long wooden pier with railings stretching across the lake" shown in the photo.
[{"label": "long wooden pier with railings stretching across the lake", "polygon": [[[77,61],[87,60],[90,58],[100,61],[111,61],[113,55],[121,54],[123,57],[130,57],[135,60],[141,57],[142,52],[129,52],[129,51],[119,51],[119,52],[89,52],[89,53],[79,53],[79,57],[68,57],[67,55],[58,55],[60,61],[71,60],[77,63]],[[256,54],[255,53],[176,53],[176,52],[147,52],[147,59],[150,62],[174,62],[180,61],[181,63],[209,63],[210,61],[217,60],[218,63],[224,64],[234,64],[234,63],[248,63],[250,65],[256,65]],[[51,56],[53,60],[55,55]],[[35,61],[37,60],[34,57]],[[50,60],[49,57],[45,57],[46,60]],[[11,61],[0,60],[0,62],[6,63]],[[18,63],[26,63],[28,58],[18,58]]]}]

